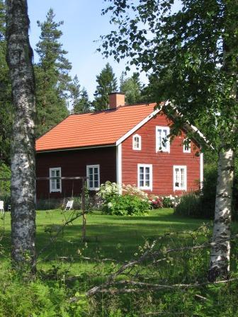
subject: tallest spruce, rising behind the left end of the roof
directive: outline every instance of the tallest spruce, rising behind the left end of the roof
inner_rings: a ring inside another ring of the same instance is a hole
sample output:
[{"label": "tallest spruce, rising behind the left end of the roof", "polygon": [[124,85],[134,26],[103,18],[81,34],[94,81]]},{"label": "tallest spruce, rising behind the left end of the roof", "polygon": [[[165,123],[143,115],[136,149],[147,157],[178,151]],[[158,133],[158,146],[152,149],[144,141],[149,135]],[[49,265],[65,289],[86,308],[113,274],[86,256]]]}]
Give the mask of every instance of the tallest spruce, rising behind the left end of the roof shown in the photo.
[{"label": "tallest spruce, rising behind the left end of the roof", "polygon": [[65,57],[67,52],[59,42],[62,36],[59,28],[63,21],[55,22],[54,18],[54,11],[50,8],[45,22],[38,21],[41,33],[36,45],[40,60],[35,65],[37,136],[69,114],[67,101],[71,81],[69,70],[72,67]]}]

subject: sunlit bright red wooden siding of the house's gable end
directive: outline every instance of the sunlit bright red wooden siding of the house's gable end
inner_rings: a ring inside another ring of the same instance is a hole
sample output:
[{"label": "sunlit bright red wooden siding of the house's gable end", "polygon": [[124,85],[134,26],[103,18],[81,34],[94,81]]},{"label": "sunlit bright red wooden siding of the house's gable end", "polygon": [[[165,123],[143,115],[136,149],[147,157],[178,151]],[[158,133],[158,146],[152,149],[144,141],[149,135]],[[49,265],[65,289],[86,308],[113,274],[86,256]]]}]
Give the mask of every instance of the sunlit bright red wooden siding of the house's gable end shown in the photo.
[{"label": "sunlit bright red wooden siding of the house's gable end", "polygon": [[142,137],[141,151],[132,149],[132,134],[122,144],[122,183],[137,185],[137,164],[152,164],[153,188],[146,190],[157,195],[181,195],[174,191],[173,166],[187,166],[187,192],[197,190],[200,185],[200,156],[198,144],[191,142],[191,153],[183,153],[183,139],[186,133],[175,137],[170,146],[170,153],[156,153],[156,126],[168,126],[172,122],[160,113],[149,120],[134,134]]}]

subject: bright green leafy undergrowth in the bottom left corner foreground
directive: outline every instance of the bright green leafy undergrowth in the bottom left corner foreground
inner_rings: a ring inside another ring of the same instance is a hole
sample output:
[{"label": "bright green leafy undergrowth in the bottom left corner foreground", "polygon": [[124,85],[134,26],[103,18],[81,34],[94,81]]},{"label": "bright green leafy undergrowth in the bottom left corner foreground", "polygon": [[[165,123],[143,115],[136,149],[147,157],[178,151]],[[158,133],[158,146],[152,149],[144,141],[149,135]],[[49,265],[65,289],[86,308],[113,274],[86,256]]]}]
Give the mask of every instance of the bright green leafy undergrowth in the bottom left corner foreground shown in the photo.
[{"label": "bright green leafy undergrowth in the bottom left corner foreground", "polygon": [[88,310],[85,298],[70,304],[70,290],[60,282],[40,278],[28,281],[2,265],[0,284],[0,316],[3,317],[80,317]]}]

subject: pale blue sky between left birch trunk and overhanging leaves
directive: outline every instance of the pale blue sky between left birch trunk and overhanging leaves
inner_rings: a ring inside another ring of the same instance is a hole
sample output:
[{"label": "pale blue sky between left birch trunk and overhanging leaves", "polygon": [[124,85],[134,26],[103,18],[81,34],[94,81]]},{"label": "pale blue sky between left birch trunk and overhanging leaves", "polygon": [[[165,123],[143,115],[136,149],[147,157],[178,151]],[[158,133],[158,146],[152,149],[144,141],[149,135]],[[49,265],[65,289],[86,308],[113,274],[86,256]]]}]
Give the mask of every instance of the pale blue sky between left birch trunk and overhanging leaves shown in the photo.
[{"label": "pale blue sky between left birch trunk and overhanging leaves", "polygon": [[[101,16],[101,9],[105,8],[103,0],[28,0],[28,15],[30,18],[30,45],[35,50],[39,41],[40,28],[37,21],[45,21],[49,8],[55,12],[55,21],[64,21],[62,25],[62,42],[64,50],[68,51],[67,58],[72,63],[71,75],[76,74],[81,87],[85,87],[91,100],[96,90],[96,75],[100,74],[106,63],[109,62],[118,78],[125,70],[125,62],[115,62],[113,57],[104,59],[102,54],[96,52],[100,43],[100,35],[110,32],[110,15]],[[34,52],[35,62],[38,56]],[[141,80],[146,83],[146,76],[142,74]]]}]

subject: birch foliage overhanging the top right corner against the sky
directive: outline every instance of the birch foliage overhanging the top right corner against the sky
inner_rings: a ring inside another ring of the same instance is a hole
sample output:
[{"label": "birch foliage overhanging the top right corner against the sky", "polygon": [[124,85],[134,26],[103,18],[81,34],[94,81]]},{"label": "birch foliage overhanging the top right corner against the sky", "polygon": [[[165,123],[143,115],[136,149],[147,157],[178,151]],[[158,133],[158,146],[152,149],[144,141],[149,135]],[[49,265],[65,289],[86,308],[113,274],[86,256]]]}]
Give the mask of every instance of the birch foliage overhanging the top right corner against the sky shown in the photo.
[{"label": "birch foliage overhanging the top right corner against the sky", "polygon": [[149,71],[148,89],[157,102],[173,100],[191,122],[205,117],[202,129],[212,144],[221,132],[236,146],[237,1],[183,0],[179,7],[172,0],[127,1],[123,7],[109,2],[120,25],[103,36],[104,53],[130,57],[130,65]]}]

